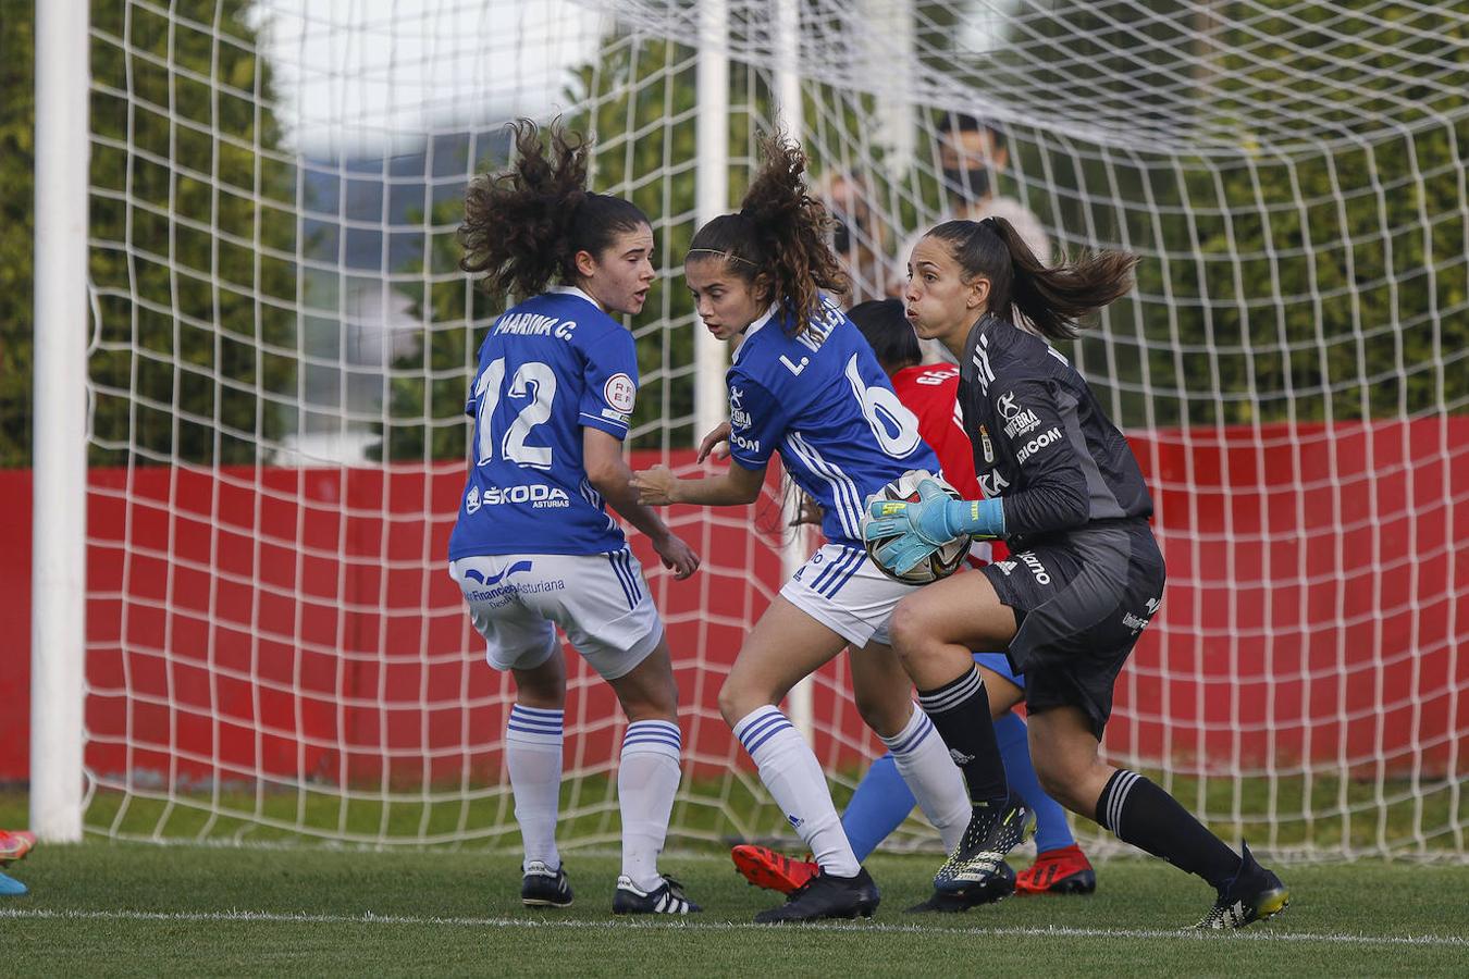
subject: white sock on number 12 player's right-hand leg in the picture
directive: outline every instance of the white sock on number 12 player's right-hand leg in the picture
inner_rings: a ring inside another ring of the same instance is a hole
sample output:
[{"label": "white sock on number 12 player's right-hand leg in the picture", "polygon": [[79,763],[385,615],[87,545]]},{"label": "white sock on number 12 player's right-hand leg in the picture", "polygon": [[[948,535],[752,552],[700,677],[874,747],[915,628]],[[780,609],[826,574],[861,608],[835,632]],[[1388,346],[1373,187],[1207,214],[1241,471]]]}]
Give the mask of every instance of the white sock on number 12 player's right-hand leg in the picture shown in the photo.
[{"label": "white sock on number 12 player's right-hand leg in the picture", "polygon": [[663,885],[658,854],[668,835],[673,796],[679,791],[683,741],[671,721],[635,721],[623,735],[617,766],[617,803],[623,813],[623,876],[640,891]]}]

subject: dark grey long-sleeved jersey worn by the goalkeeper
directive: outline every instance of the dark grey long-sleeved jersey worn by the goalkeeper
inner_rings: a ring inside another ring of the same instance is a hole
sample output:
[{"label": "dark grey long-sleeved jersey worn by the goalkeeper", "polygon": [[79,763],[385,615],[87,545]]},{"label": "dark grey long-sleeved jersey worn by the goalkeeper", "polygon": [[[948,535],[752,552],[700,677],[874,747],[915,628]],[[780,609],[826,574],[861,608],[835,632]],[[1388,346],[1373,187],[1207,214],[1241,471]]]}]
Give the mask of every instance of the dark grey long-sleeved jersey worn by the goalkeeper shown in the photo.
[{"label": "dark grey long-sleeved jersey worn by the goalkeeper", "polygon": [[986,316],[959,367],[974,471],[986,496],[1005,501],[1012,550],[1091,521],[1152,515],[1127,439],[1043,339]]}]

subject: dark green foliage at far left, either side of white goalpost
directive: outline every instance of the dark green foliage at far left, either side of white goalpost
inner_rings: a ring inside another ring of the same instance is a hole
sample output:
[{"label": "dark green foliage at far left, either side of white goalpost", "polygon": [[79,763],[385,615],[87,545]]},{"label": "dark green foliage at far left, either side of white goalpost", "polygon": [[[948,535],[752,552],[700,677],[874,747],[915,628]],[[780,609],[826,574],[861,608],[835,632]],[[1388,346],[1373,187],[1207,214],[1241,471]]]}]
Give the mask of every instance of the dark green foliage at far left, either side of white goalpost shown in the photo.
[{"label": "dark green foliage at far left, either side of white goalpost", "polygon": [[[294,426],[295,181],[248,0],[91,6],[94,462],[253,462]],[[29,461],[34,6],[4,4],[0,461]],[[57,329],[40,324],[41,329]],[[78,327],[79,329],[79,327]],[[81,393],[78,392],[78,396]]]}]

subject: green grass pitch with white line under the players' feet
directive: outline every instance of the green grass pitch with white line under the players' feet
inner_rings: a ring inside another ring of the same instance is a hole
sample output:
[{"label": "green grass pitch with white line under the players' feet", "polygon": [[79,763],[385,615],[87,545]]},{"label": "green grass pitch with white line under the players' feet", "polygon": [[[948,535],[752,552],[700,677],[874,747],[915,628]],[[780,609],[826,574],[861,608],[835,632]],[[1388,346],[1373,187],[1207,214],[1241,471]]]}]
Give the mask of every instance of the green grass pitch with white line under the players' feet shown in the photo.
[{"label": "green grass pitch with white line under the players' feet", "polygon": [[[1466,975],[1462,866],[1363,862],[1282,867],[1291,906],[1228,935],[1180,931],[1208,888],[1156,860],[1097,867],[1089,898],[1011,898],[967,914],[906,914],[933,856],[876,856],[870,922],[761,928],[777,898],[723,853],[664,856],[705,911],[610,913],[614,853],[566,854],[576,904],[519,901],[519,857],[488,850],[370,851],[41,845],[0,898],[0,972],[31,975]],[[1022,862],[1022,860],[1021,860]]]}]

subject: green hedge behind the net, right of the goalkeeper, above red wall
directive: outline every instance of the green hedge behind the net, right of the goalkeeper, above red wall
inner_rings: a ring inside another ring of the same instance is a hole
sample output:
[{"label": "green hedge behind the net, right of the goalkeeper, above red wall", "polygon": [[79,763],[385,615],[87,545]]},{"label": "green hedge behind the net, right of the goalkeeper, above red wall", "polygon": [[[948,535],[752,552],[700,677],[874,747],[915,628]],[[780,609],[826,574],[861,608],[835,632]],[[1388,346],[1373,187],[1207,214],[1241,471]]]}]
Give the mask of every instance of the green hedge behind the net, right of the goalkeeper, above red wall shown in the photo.
[{"label": "green hedge behind the net, right of the goalkeeper, above red wall", "polygon": [[[1199,13],[1177,0],[1150,6],[1153,29]],[[1037,210],[1072,245],[1090,238],[1143,257],[1137,298],[1078,343],[1089,377],[1134,426],[1462,411],[1469,92],[1415,85],[1412,62],[1454,62],[1459,78],[1469,73],[1462,23],[1421,4],[1353,3],[1294,10],[1313,22],[1306,32],[1285,15],[1252,16],[1246,29],[1234,19],[1246,6],[1210,12],[1232,26],[1216,38],[1222,54],[1200,68],[1222,92],[1219,114],[1238,120],[1232,154],[1165,145],[1144,154],[1034,134],[1014,141],[1019,169],[1050,175],[1053,195],[1034,195]],[[1404,29],[1369,28],[1368,16]],[[1050,84],[1146,110],[1146,70],[1134,65],[1124,90],[1102,48],[1075,41],[1118,29],[1102,12],[1072,7],[1030,26],[1052,43],[1068,38],[1068,75]],[[1138,41],[1138,60],[1175,48]],[[1353,110],[1347,100],[1363,92],[1329,72],[1287,75],[1302,48],[1359,66],[1354,85],[1381,90],[1375,104],[1393,123]],[[1047,81],[1044,68],[1037,78]],[[1152,78],[1165,81],[1161,69]],[[1252,131],[1262,100],[1312,107],[1334,138],[1262,145]],[[1340,109],[1322,109],[1331,104]]]}]

